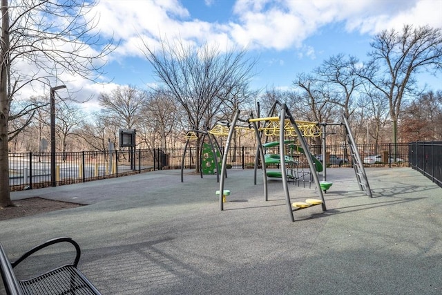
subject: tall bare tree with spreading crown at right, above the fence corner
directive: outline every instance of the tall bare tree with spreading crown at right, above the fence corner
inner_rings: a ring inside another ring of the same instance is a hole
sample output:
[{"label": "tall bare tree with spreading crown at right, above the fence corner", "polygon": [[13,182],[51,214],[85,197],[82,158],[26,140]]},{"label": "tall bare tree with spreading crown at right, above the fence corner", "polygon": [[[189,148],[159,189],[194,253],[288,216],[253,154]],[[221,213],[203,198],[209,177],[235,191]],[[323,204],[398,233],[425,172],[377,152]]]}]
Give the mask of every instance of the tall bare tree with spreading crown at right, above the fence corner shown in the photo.
[{"label": "tall bare tree with spreading crown at right, above the fence corner", "polygon": [[408,95],[416,94],[416,75],[423,70],[441,73],[442,33],[439,28],[405,25],[401,32],[392,29],[379,33],[371,46],[371,60],[358,75],[388,100],[396,146],[402,102]]}]

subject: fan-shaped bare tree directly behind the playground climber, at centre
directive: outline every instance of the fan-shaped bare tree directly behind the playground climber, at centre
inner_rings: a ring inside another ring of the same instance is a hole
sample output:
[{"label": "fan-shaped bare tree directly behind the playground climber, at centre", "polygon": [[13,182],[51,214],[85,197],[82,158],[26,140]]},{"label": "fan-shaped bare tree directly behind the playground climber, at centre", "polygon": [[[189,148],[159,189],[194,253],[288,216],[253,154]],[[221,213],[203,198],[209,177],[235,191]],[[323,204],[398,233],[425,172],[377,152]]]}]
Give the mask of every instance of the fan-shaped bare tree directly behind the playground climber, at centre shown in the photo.
[{"label": "fan-shaped bare tree directly behind the playground climber, at centre", "polygon": [[[255,61],[245,51],[221,53],[214,46],[184,46],[183,42],[161,42],[159,51],[144,44],[143,53],[165,88],[184,108],[189,129],[211,128],[232,89],[248,84]],[[197,153],[200,137],[196,141]],[[199,158],[197,157],[197,161]],[[199,171],[197,162],[196,171]]]}]

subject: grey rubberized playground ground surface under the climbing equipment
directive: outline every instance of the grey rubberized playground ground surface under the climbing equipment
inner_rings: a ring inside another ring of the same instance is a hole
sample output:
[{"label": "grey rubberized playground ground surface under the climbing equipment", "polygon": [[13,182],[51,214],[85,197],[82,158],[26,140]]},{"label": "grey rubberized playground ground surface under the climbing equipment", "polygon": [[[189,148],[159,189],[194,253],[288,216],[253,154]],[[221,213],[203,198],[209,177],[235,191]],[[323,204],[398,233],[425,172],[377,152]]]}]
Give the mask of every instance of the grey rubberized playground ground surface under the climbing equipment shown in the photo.
[{"label": "grey rubberized playground ground surface under the climbing equipment", "polygon": [[[189,171],[183,183],[180,171],[155,171],[15,192],[89,205],[2,221],[0,240],[13,259],[74,238],[103,294],[442,294],[442,189],[420,173],[367,169],[370,199],[353,169],[328,169],[327,211],[296,211],[296,222],[279,180],[265,202],[253,171],[228,173],[224,211],[215,176]],[[316,197],[308,184],[290,191]]]}]

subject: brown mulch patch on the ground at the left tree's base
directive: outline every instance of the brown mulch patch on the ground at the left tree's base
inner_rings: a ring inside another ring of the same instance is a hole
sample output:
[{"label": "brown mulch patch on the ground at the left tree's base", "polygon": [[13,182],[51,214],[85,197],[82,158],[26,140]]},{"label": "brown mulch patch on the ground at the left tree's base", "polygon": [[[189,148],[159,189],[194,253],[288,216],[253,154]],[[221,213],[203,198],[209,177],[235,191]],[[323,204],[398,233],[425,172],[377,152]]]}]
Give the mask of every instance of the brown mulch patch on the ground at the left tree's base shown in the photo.
[{"label": "brown mulch patch on the ground at the left tree's base", "polygon": [[0,207],[0,220],[7,220],[60,209],[76,208],[84,206],[70,202],[48,200],[44,198],[29,198],[14,201],[15,207]]}]

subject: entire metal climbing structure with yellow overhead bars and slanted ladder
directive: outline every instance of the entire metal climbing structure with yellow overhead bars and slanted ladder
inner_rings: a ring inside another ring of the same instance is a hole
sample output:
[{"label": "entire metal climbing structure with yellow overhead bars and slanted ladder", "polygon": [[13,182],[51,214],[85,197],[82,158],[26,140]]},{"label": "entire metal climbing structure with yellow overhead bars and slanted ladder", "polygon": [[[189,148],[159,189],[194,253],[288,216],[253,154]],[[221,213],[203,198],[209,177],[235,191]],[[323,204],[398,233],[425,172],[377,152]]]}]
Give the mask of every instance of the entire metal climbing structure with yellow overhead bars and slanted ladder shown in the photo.
[{"label": "entire metal climbing structure with yellow overhead bars and slanted ladder", "polygon": [[[361,155],[358,152],[356,142],[352,135],[352,131],[349,128],[349,123],[347,118],[343,116],[343,122],[340,123],[318,123],[318,122],[307,122],[307,121],[297,121],[294,120],[293,115],[289,111],[289,108],[285,104],[280,102],[275,102],[271,107],[267,117],[254,117],[253,113],[249,114],[247,119],[241,119],[240,111],[237,109],[233,114],[233,120],[231,122],[218,122],[218,124],[211,130],[205,129],[204,131],[189,131],[186,134],[187,144],[189,140],[195,140],[198,138],[197,132],[202,132],[204,142],[204,137],[209,138],[210,149],[206,146],[205,152],[200,153],[200,165],[205,165],[202,155],[205,154],[206,157],[209,155],[213,165],[211,169],[217,175],[217,182],[220,183],[219,191],[216,194],[219,196],[220,210],[224,210],[224,202],[226,202],[226,197],[230,195],[228,189],[224,189],[225,178],[227,178],[227,155],[229,154],[229,149],[231,146],[231,140],[234,133],[245,132],[247,134],[254,133],[257,142],[256,160],[255,160],[255,178],[254,182],[256,184],[257,170],[260,167],[262,169],[262,181],[264,189],[264,198],[268,200],[268,178],[280,178],[282,180],[282,187],[285,193],[285,200],[287,205],[287,211],[289,213],[290,220],[292,222],[294,219],[294,212],[300,209],[306,209],[308,207],[313,207],[316,205],[321,205],[323,211],[327,210],[325,204],[324,193],[332,186],[332,182],[327,182],[326,173],[326,149],[325,144],[325,134],[327,125],[341,125],[345,127],[345,133],[347,137],[347,142],[350,147],[350,155],[352,158],[352,166],[356,174],[356,180],[358,182],[361,191],[365,191],[369,198],[372,198],[372,192],[369,188],[369,183],[367,180],[367,175],[361,160]],[[220,151],[220,145],[217,136],[225,137],[227,140],[224,146],[224,151]],[[309,145],[307,144],[306,138],[308,137],[320,137],[323,136],[323,148],[322,148],[322,160],[320,162],[309,150]],[[278,137],[278,141],[269,142],[269,137]],[[265,153],[265,149],[269,147],[279,146],[279,154],[269,154]],[[289,153],[286,154],[287,149]],[[307,159],[308,171],[302,169],[294,173],[294,164],[296,160],[294,159],[293,151],[296,153],[303,153]],[[185,152],[183,155],[183,159]],[[222,162],[220,158],[222,157]],[[277,164],[279,166],[279,171],[267,171],[268,164]],[[184,165],[182,165],[184,166]],[[203,169],[201,169],[202,171]],[[323,180],[319,180],[318,173],[323,173]],[[201,172],[202,173],[202,172]],[[310,182],[314,182],[316,185],[316,192],[318,193],[318,199],[307,199],[305,202],[291,202],[289,194],[289,181],[299,181],[300,177],[305,178],[306,175],[309,177]],[[202,176],[202,175],[201,175]],[[181,181],[183,182],[183,169],[181,174]]]}]

